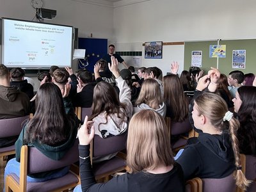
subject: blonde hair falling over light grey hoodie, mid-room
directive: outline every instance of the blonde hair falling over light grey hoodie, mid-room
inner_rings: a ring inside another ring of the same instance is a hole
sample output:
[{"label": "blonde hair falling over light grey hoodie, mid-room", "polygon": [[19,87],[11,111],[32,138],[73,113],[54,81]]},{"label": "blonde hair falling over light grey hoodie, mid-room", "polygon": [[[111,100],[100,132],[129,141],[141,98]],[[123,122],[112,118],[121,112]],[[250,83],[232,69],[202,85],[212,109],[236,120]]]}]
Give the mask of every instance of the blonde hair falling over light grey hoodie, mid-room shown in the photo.
[{"label": "blonde hair falling over light grey hoodie, mid-room", "polygon": [[150,108],[158,109],[163,103],[160,86],[155,79],[145,79],[141,86],[140,95],[135,104],[147,104]]}]

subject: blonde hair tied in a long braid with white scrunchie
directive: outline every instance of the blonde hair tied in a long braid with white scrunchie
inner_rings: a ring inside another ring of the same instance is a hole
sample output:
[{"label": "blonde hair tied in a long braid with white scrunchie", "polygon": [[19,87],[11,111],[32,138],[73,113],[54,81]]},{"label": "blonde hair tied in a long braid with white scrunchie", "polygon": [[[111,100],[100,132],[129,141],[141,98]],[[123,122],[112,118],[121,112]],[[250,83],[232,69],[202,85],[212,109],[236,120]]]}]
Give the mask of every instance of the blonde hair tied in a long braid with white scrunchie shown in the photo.
[{"label": "blonde hair tied in a long braid with white scrunchie", "polygon": [[239,145],[236,136],[237,129],[240,126],[239,121],[236,120],[234,116],[229,122],[223,121],[223,117],[228,111],[227,103],[215,93],[202,93],[202,95],[195,99],[195,103],[198,105],[199,115],[207,116],[216,129],[229,132],[236,164],[234,179],[236,179],[236,185],[239,186],[239,188],[246,189],[246,187],[250,185],[250,180],[246,179],[241,170]]}]

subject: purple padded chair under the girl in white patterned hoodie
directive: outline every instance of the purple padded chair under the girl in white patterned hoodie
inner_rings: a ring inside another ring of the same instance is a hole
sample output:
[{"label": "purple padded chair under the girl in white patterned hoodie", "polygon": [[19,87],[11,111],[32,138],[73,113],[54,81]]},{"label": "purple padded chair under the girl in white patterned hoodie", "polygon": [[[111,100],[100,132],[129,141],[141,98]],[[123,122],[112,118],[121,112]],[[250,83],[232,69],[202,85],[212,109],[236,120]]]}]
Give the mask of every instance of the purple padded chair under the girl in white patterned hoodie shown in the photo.
[{"label": "purple padded chair under the girl in white patterned hoodie", "polygon": [[110,175],[128,170],[124,156],[116,155],[109,160],[93,163],[93,157],[107,156],[126,149],[126,142],[127,132],[109,138],[100,138],[98,135],[94,136],[90,144],[90,157],[96,180],[104,179],[104,181],[108,181]]}]

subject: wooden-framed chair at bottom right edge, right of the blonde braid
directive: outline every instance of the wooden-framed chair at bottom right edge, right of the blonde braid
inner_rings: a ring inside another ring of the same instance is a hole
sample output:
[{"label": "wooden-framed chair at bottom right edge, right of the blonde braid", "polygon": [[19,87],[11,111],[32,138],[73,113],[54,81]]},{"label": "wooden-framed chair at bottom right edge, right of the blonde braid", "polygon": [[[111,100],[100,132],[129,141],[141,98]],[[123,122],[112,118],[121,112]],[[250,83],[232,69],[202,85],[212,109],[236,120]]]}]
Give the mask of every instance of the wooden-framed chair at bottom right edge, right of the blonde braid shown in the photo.
[{"label": "wooden-framed chair at bottom right edge, right of the blonde braid", "polygon": [[[246,192],[256,191],[256,157],[240,154],[242,172],[246,179],[252,180]],[[237,192],[245,192],[243,189],[237,188]]]}]

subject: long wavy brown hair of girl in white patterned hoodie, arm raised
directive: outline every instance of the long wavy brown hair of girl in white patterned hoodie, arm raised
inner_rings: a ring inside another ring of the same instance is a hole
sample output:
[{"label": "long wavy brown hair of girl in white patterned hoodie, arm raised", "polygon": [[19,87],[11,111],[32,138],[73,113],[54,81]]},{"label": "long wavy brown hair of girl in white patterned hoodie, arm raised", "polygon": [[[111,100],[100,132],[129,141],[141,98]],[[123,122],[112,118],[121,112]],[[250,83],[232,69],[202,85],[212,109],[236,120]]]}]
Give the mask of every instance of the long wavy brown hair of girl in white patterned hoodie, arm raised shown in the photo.
[{"label": "long wavy brown hair of girl in white patterned hoodie, arm raised", "polygon": [[[121,108],[121,109],[120,109]],[[106,111],[106,115],[117,114],[125,121],[125,104],[120,102],[118,95],[111,84],[101,81],[93,90],[92,115],[90,120]]]}]

